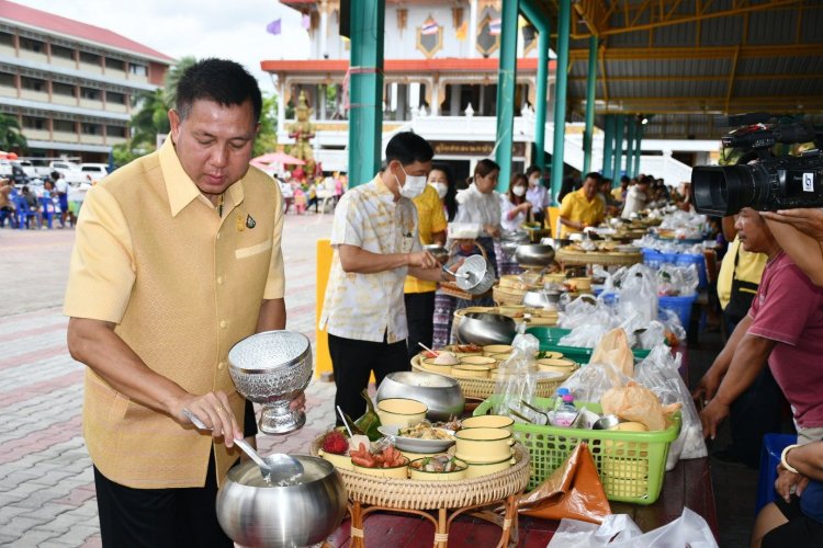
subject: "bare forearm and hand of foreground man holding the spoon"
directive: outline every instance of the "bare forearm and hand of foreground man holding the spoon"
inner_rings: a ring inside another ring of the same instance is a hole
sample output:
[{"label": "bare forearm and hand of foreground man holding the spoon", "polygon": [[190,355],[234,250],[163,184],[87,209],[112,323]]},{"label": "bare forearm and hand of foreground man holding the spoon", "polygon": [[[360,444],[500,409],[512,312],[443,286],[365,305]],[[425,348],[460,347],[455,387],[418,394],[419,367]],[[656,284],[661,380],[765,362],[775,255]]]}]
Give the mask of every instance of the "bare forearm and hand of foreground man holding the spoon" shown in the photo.
[{"label": "bare forearm and hand of foreground man holding the spoon", "polygon": [[91,367],[115,390],[129,399],[162,412],[181,424],[189,424],[187,408],[200,418],[207,416],[214,437],[234,445],[243,431],[237,424],[228,397],[221,390],[203,396],[187,392],[171,379],[151,370],[114,332],[114,323],[70,318],[68,349],[71,357]]}]

